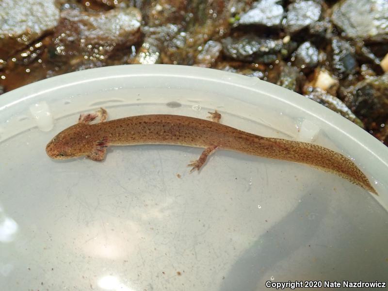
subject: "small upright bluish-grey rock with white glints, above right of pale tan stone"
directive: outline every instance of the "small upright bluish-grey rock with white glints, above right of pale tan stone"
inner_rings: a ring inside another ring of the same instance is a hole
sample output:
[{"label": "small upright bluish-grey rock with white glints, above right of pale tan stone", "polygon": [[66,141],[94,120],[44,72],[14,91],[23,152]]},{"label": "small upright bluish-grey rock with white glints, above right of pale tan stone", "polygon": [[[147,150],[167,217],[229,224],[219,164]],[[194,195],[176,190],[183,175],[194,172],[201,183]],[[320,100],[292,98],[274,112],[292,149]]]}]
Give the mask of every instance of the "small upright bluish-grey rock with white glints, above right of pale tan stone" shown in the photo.
[{"label": "small upright bluish-grey rock with white glints, above right of pale tan stone", "polygon": [[358,64],[355,48],[338,37],[333,38],[331,48],[333,52],[332,66],[339,78],[356,73]]}]

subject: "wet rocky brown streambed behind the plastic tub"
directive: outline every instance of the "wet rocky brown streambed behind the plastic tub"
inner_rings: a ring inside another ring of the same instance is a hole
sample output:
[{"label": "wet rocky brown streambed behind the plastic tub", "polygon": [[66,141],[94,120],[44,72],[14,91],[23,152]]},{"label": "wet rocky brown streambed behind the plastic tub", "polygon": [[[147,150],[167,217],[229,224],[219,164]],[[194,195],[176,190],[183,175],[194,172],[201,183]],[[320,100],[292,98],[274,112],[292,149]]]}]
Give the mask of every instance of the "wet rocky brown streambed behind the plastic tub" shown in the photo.
[{"label": "wet rocky brown streambed behind the plastic tub", "polygon": [[0,1],[0,94],[124,64],[273,82],[388,145],[387,0]]}]

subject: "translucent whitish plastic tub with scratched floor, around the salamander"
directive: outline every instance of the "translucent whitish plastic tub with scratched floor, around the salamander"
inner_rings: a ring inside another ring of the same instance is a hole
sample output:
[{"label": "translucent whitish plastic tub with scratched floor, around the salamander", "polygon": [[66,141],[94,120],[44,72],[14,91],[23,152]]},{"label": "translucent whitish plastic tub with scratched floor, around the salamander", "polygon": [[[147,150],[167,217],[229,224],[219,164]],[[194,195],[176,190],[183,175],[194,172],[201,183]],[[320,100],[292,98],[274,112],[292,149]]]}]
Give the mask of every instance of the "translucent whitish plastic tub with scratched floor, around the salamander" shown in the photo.
[{"label": "translucent whitish plastic tub with scratched floor, around the salamander", "polygon": [[[82,112],[206,118],[349,155],[376,197],[304,165],[201,149],[109,148],[52,161]],[[50,123],[52,123],[51,128]],[[49,131],[47,131],[49,130]],[[387,280],[388,150],[295,93],[221,71],[115,66],[0,96],[1,290],[263,290],[266,281]]]}]

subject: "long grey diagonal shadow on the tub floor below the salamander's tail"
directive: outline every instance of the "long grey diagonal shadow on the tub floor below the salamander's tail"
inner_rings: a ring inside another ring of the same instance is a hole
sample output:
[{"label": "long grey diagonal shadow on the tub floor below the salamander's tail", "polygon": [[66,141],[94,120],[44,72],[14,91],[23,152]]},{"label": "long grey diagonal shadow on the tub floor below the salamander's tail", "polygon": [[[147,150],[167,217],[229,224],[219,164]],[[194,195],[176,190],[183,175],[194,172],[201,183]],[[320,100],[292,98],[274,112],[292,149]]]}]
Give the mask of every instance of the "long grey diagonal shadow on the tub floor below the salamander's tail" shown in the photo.
[{"label": "long grey diagonal shadow on the tub floor below the salamander's tail", "polygon": [[[329,205],[329,196],[314,196],[306,193],[297,207],[261,235],[240,258],[234,262],[229,274],[223,280],[221,291],[261,290],[260,280],[267,281],[267,270],[286,260],[306,242],[310,241],[322,224]],[[320,205],[317,209],[315,206]],[[316,213],[306,213],[307,209],[316,209]],[[308,219],[301,219],[307,215]],[[287,238],[287,240],[285,239]],[[271,274],[270,279],[275,280]]]}]

